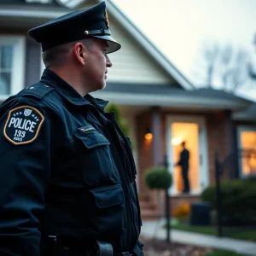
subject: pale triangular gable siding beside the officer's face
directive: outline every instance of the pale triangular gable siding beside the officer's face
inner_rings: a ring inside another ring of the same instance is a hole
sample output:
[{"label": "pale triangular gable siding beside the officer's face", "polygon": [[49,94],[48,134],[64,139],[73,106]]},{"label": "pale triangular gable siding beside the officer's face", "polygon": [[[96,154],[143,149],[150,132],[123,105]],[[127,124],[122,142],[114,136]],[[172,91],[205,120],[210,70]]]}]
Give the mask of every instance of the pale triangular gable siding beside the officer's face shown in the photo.
[{"label": "pale triangular gable siding beside the officer's face", "polygon": [[170,84],[172,78],[148,53],[111,19],[110,29],[122,48],[109,55],[113,67],[108,70],[108,81],[146,84]]}]

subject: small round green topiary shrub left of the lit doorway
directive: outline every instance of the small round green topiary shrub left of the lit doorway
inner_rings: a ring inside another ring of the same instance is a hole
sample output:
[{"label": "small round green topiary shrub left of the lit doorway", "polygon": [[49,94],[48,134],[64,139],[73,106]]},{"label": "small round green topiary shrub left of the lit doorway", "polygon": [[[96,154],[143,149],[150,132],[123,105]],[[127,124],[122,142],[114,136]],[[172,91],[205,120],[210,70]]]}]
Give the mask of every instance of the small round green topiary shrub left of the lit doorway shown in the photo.
[{"label": "small round green topiary shrub left of the lit doorway", "polygon": [[172,185],[172,176],[164,167],[151,167],[144,178],[149,189],[169,189]]}]

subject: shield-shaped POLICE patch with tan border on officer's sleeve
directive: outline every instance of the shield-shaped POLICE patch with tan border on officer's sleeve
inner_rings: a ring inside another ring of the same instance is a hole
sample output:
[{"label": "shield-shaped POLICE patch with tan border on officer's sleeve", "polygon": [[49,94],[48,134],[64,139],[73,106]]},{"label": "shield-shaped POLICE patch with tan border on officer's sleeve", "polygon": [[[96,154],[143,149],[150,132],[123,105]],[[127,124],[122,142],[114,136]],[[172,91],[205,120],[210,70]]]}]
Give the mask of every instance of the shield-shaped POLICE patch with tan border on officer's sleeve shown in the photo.
[{"label": "shield-shaped POLICE patch with tan border on officer's sleeve", "polygon": [[21,106],[9,111],[3,135],[15,145],[32,143],[44,123],[44,115],[36,108]]}]

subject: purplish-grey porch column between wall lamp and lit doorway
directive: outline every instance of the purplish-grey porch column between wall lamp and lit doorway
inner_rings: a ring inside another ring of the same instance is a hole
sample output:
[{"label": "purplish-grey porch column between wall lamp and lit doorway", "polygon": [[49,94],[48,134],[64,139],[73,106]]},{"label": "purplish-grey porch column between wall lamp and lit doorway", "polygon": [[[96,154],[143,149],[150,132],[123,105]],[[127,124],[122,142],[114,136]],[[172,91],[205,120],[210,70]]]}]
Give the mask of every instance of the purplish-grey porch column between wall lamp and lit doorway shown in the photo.
[{"label": "purplish-grey porch column between wall lamp and lit doorway", "polygon": [[153,165],[160,166],[163,164],[161,152],[161,119],[160,107],[152,108],[151,129],[153,134],[152,148],[153,148]]}]

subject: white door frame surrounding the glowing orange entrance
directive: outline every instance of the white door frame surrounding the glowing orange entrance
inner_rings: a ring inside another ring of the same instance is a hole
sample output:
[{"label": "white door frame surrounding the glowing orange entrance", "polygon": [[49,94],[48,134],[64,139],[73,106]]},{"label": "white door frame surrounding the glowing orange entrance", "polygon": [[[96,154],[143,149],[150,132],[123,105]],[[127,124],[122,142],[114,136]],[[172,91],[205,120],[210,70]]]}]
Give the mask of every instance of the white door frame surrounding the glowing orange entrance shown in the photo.
[{"label": "white door frame surrounding the glowing orange entrance", "polygon": [[[207,125],[206,119],[202,115],[184,115],[184,114],[168,114],[166,115],[166,152],[167,152],[167,163],[168,172],[173,175],[173,151],[171,145],[172,123],[196,123],[199,125],[199,157],[200,157],[200,177],[199,186],[197,191],[191,191],[188,195],[201,195],[203,189],[207,188],[209,185],[209,164],[208,164],[208,146],[207,146]],[[172,179],[173,181],[175,178]],[[175,190],[174,185],[169,189],[170,195],[180,195],[179,192]]]}]

